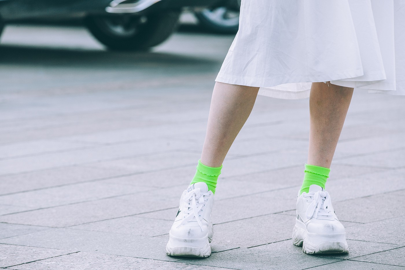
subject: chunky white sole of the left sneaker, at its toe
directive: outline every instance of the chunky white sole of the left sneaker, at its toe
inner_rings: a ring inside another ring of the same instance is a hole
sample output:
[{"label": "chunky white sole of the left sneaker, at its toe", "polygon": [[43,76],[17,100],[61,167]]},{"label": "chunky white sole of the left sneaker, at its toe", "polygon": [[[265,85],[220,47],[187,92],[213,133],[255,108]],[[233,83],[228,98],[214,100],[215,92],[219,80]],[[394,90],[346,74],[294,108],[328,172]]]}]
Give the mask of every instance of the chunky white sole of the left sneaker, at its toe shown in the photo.
[{"label": "chunky white sole of the left sneaker, at its toe", "polygon": [[169,233],[169,242],[166,245],[166,253],[169,256],[199,257],[205,258],[211,255],[212,238],[208,234],[199,239],[177,238]]}]

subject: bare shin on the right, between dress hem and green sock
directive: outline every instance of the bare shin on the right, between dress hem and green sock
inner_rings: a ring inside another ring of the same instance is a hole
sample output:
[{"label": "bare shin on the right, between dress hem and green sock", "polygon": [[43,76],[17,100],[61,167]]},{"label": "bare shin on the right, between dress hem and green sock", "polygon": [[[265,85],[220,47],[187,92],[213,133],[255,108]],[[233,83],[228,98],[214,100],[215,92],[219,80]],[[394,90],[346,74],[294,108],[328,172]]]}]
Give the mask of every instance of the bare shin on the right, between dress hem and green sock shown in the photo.
[{"label": "bare shin on the right, between dress hem and green sock", "polygon": [[312,83],[308,164],[330,168],[352,94],[353,88]]}]

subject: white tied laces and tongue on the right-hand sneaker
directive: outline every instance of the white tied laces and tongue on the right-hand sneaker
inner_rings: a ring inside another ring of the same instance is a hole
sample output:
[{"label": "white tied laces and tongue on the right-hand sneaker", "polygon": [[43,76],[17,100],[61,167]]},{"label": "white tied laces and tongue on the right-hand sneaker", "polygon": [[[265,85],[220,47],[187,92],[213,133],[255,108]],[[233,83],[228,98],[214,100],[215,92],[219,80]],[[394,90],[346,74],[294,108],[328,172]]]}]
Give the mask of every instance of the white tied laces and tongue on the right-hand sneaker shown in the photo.
[{"label": "white tied laces and tongue on the right-hand sneaker", "polygon": [[312,216],[318,218],[318,216],[333,216],[332,211],[328,209],[328,206],[331,205],[329,193],[326,191],[317,191],[314,193],[307,193],[304,195],[308,201],[311,201],[311,204],[308,206],[307,212],[305,213],[307,219],[310,219]]}]

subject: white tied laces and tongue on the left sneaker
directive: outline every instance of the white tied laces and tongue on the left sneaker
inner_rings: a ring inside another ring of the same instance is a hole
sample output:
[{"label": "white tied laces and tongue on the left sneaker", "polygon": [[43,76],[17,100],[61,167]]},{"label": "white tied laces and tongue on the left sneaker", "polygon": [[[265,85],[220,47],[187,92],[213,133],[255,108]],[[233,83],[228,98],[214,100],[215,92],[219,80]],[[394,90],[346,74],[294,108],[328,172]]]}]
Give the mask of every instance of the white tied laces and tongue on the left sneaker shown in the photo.
[{"label": "white tied laces and tongue on the left sneaker", "polygon": [[194,217],[196,218],[196,221],[198,225],[200,225],[201,231],[203,231],[203,224],[201,223],[198,212],[201,211],[201,208],[203,208],[204,205],[204,195],[201,193],[200,189],[193,189],[189,193],[187,193],[184,196],[184,203],[186,204],[186,207],[184,207],[184,214],[187,215],[183,221],[179,224],[178,227],[181,225],[184,225]]}]

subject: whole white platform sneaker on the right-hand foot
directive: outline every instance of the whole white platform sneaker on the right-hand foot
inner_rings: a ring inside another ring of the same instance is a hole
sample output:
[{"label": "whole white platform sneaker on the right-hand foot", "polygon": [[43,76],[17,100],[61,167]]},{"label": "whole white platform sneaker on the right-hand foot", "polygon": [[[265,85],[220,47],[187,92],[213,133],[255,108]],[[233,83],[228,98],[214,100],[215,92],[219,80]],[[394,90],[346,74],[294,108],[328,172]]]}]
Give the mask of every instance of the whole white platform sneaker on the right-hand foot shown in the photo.
[{"label": "whole white platform sneaker on the right-hand foot", "polygon": [[298,195],[292,241],[307,254],[348,252],[345,228],[322,187],[311,185],[309,193]]}]

